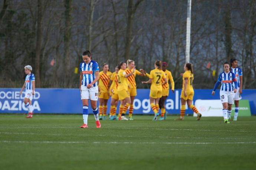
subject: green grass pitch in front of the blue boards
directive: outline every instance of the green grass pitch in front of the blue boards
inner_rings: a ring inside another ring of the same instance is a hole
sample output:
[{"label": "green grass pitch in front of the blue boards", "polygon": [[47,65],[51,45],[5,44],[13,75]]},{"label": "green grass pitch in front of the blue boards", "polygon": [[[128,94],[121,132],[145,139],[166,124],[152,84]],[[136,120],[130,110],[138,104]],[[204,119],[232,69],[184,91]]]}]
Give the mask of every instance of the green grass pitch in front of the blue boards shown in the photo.
[{"label": "green grass pitch in front of the blue boards", "polygon": [[0,115],[0,169],[255,169],[256,116],[175,121],[89,115]]}]

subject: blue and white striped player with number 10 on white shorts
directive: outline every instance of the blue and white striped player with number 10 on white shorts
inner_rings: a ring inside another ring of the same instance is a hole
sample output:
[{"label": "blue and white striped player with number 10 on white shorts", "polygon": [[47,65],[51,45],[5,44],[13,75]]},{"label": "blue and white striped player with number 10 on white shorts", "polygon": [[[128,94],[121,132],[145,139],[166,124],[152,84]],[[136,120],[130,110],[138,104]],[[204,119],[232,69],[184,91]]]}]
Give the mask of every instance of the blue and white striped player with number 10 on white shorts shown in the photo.
[{"label": "blue and white striped player with number 10 on white shorts", "polygon": [[234,93],[237,92],[237,80],[236,75],[233,72],[230,72],[229,62],[224,62],[223,67],[224,72],[219,75],[218,81],[216,82],[213,88],[213,92],[211,94],[215,94],[216,89],[221,83],[220,100],[223,105],[222,113],[224,117],[224,122],[230,123],[229,116],[231,115],[232,104],[234,102]]}]

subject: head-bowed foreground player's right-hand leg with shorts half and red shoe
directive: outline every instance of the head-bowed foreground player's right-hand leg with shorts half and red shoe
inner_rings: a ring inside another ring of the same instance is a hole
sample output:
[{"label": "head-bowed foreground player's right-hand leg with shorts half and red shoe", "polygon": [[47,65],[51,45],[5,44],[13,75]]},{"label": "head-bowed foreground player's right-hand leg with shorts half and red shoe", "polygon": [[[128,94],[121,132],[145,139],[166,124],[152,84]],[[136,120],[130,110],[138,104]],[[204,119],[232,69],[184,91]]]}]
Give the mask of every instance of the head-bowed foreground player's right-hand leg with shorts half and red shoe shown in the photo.
[{"label": "head-bowed foreground player's right-hand leg with shorts half and red shoe", "polygon": [[89,99],[91,101],[92,112],[95,118],[96,128],[101,128],[101,123],[99,122],[99,109],[97,108],[98,101],[98,87],[91,87],[89,89]]}]

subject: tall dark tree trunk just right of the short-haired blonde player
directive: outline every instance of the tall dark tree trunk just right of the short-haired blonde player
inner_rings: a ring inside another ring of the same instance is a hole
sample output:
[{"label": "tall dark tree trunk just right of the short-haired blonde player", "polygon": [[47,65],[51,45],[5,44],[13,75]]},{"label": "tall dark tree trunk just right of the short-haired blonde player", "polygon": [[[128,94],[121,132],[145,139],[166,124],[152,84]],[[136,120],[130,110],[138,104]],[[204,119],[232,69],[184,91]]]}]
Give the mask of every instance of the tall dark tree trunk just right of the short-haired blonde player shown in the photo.
[{"label": "tall dark tree trunk just right of the short-haired blonde player", "polygon": [[37,28],[36,28],[36,87],[40,88],[40,52],[42,44],[42,0],[37,0]]}]

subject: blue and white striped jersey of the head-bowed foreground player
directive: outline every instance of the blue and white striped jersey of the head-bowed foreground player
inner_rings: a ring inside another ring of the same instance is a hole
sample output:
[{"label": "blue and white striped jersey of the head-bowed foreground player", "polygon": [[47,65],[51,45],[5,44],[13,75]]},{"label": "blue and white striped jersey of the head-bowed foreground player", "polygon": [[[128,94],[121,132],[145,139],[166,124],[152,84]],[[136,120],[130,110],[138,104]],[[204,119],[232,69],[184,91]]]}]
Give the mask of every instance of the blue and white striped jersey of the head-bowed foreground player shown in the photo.
[{"label": "blue and white striped jersey of the head-bowed foreground player", "polygon": [[[91,60],[88,64],[85,62],[82,62],[80,64],[80,71],[83,74],[82,79],[82,86],[87,86],[88,84],[91,84],[93,80],[95,79],[95,72],[99,71],[99,66],[96,61]],[[98,86],[98,82],[93,84],[93,87]]]}]

